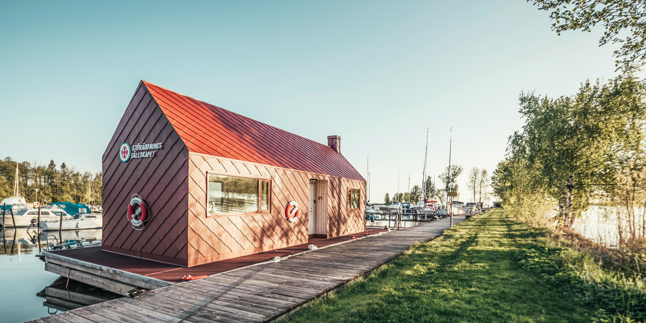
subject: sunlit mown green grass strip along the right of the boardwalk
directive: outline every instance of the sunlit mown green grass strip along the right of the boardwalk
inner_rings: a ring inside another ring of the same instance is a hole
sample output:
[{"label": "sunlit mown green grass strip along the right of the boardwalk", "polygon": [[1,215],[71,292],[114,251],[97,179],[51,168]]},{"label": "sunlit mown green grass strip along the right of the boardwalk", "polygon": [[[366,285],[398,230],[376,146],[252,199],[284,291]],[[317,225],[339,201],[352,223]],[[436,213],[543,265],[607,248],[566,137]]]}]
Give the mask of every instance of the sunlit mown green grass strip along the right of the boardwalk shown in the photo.
[{"label": "sunlit mown green grass strip along the right of the boardwalk", "polygon": [[596,313],[512,260],[543,231],[492,210],[282,322],[591,322]]}]

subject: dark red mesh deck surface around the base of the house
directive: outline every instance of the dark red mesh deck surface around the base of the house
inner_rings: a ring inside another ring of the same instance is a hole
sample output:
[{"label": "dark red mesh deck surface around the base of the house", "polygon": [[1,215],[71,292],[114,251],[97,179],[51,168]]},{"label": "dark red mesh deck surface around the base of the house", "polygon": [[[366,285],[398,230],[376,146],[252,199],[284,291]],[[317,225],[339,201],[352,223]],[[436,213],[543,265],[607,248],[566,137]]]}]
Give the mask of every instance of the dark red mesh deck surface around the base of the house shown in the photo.
[{"label": "dark red mesh deck surface around the base of the house", "polygon": [[[368,234],[380,233],[387,231],[384,229],[368,229]],[[77,260],[91,262],[101,266],[129,271],[139,275],[149,276],[167,282],[180,282],[184,275],[202,276],[213,275],[222,273],[231,269],[241,268],[259,262],[266,262],[273,259],[275,256],[288,256],[302,251],[307,251],[307,245],[313,244],[317,247],[324,247],[326,245],[337,244],[351,240],[353,236],[360,237],[366,235],[366,231],[348,234],[346,236],[337,236],[336,238],[329,239],[309,239],[307,244],[293,245],[282,249],[265,251],[262,253],[255,253],[253,255],[240,256],[238,258],[231,258],[227,260],[220,260],[218,262],[211,262],[209,264],[202,264],[193,267],[180,267],[171,264],[163,264],[152,260],[145,260],[132,256],[119,255],[116,253],[109,253],[101,251],[101,247],[87,247],[78,249],[64,249],[60,251],[50,251],[57,255],[74,258]]]}]

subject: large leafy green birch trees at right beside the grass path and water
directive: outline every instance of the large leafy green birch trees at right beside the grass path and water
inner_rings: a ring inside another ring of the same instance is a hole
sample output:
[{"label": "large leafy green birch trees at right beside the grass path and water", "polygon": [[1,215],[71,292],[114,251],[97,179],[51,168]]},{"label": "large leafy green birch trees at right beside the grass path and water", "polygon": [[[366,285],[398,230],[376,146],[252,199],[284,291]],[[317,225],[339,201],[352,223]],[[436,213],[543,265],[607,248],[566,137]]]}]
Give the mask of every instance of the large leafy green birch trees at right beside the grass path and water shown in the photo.
[{"label": "large leafy green birch trees at right beside the grass path and water", "polygon": [[645,99],[646,87],[630,76],[587,81],[571,97],[521,93],[525,125],[494,172],[495,194],[525,218],[536,215],[532,200],[560,202],[559,223],[570,227],[593,199],[613,193],[621,165],[645,160]]}]

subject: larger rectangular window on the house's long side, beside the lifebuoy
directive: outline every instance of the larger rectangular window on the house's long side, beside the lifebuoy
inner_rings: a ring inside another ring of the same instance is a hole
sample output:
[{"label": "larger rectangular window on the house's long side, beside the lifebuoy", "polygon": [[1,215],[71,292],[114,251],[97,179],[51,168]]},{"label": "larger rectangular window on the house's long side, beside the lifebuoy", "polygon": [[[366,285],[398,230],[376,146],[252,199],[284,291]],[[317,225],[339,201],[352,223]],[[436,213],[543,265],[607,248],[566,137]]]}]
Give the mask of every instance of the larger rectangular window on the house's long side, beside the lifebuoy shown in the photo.
[{"label": "larger rectangular window on the house's long side, beside the lifebuoy", "polygon": [[207,174],[207,213],[227,215],[269,211],[269,181]]}]

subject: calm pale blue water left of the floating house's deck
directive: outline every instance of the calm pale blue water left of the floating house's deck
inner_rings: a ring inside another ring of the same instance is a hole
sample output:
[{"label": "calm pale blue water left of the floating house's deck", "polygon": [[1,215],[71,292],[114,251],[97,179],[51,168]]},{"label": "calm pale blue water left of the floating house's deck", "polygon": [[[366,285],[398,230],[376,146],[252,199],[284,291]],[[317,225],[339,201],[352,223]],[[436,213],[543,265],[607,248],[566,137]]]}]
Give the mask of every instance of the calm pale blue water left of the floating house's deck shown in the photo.
[{"label": "calm pale blue water left of the floating house's deck", "polygon": [[[58,236],[58,233],[52,233]],[[38,243],[45,247],[47,233],[37,236],[26,228],[0,230],[0,323],[16,323],[54,314],[55,308],[45,306],[45,298],[36,294],[59,278],[45,271],[45,262],[36,257]],[[63,240],[101,238],[101,229],[63,231]]]}]

